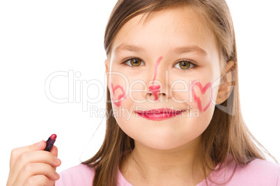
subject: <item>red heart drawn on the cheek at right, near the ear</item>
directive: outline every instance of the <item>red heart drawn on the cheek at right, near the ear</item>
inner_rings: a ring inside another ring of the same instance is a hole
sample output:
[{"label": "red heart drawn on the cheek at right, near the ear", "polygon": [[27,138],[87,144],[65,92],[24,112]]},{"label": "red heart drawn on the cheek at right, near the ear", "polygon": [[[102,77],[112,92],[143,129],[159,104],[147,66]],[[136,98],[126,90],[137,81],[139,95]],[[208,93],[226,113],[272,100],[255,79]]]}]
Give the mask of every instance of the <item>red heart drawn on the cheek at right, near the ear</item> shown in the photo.
[{"label": "red heart drawn on the cheek at right, near the ear", "polygon": [[[196,92],[194,92],[194,85],[196,85],[197,87],[199,87],[199,89],[201,90],[201,94],[205,94],[206,90],[208,90],[208,88],[210,88],[211,91],[211,95],[212,95],[212,85],[211,83],[207,83],[204,87],[202,87],[201,83],[198,83],[196,81],[194,81],[194,83],[192,83],[192,94],[194,96],[194,101],[197,103],[197,107],[199,108],[199,112],[205,112],[211,103],[211,99],[209,100],[208,104],[205,106],[205,108],[202,109],[201,107],[201,99],[199,96],[196,96]],[[210,96],[211,98],[211,96]]]}]

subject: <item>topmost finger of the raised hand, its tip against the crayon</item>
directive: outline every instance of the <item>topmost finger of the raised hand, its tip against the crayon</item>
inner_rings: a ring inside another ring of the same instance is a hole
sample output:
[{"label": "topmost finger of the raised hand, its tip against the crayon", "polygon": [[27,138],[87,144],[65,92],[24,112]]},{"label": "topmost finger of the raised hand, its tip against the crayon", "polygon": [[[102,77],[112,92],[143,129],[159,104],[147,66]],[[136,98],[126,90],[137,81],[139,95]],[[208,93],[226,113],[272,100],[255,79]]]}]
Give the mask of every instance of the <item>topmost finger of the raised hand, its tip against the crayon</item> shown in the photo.
[{"label": "topmost finger of the raised hand, its tip against the crayon", "polygon": [[40,142],[37,142],[36,144],[13,149],[10,153],[10,169],[14,167],[15,162],[17,162],[17,159],[20,158],[23,153],[44,150],[46,145],[47,143],[45,142],[45,140],[42,140]]}]

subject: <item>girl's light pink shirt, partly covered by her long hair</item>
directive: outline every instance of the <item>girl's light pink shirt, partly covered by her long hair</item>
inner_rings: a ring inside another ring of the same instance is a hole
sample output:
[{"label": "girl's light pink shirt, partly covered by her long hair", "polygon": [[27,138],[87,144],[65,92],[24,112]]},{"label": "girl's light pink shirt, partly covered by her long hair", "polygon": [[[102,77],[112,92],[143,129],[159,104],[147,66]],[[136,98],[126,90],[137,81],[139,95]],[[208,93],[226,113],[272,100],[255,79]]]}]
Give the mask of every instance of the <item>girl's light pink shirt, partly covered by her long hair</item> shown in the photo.
[{"label": "girl's light pink shirt, partly covered by her long hair", "polygon": [[[219,165],[218,165],[219,166]],[[217,167],[218,167],[217,166]],[[216,169],[217,169],[216,167]],[[228,166],[221,171],[212,172],[207,178],[212,178],[216,183],[224,183],[225,180],[231,177],[235,168],[235,162],[228,164]],[[233,177],[226,183],[228,186],[241,185],[261,185],[261,186],[280,186],[280,166],[266,160],[252,160],[245,167],[238,166],[235,169]],[[56,186],[92,186],[95,169],[91,169],[84,164],[79,164],[76,167],[62,171],[61,178],[56,181]],[[209,182],[208,182],[209,184]],[[118,169],[118,185],[132,186],[120,173]],[[205,180],[196,186],[204,186]],[[215,185],[215,184],[209,184]]]}]

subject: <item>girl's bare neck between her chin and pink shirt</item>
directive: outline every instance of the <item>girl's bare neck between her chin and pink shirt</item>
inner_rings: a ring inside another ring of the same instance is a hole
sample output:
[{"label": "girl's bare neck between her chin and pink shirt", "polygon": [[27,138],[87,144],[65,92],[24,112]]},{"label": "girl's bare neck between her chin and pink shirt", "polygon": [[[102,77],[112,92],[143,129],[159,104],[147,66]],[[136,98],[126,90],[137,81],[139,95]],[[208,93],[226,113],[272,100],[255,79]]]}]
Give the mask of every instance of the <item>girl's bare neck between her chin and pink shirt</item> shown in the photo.
[{"label": "girl's bare neck between her chin and pink shirt", "polygon": [[134,141],[135,148],[120,171],[132,185],[196,185],[204,178],[197,153],[199,140],[171,150],[151,149]]}]

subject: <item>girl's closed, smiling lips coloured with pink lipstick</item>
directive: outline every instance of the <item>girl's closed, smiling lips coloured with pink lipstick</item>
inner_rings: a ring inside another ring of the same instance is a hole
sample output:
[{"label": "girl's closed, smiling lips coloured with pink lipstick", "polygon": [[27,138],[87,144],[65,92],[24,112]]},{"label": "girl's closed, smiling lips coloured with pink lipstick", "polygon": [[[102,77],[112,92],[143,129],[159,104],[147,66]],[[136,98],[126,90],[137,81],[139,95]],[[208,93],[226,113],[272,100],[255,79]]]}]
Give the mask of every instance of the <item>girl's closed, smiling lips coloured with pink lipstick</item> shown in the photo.
[{"label": "girl's closed, smiling lips coloured with pink lipstick", "polygon": [[144,111],[137,110],[135,112],[140,117],[143,117],[143,118],[146,118],[149,120],[154,120],[154,121],[161,121],[164,119],[169,119],[171,117],[176,117],[184,111],[185,110],[173,110],[170,108],[159,108],[159,109],[144,110]]}]

